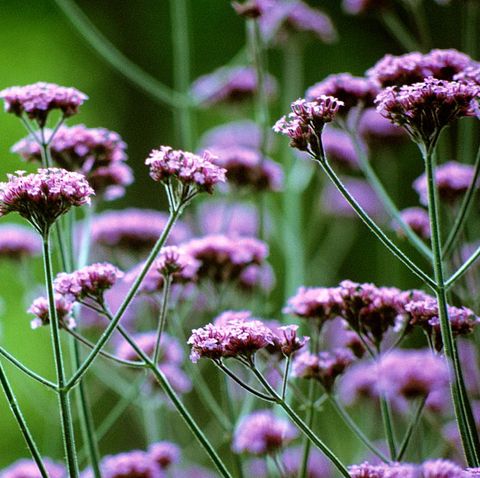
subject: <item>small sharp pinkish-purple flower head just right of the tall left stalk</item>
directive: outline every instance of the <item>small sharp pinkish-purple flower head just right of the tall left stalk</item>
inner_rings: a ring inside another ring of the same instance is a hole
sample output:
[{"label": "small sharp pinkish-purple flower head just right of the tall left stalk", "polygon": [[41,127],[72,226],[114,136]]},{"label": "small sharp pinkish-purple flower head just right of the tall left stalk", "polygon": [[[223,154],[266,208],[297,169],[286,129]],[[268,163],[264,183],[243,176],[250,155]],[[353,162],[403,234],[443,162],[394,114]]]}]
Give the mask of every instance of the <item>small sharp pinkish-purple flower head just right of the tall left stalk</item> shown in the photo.
[{"label": "small sharp pinkish-purple flower head just right of the tall left stalk", "polygon": [[82,301],[88,298],[102,302],[105,291],[111,289],[122,275],[112,264],[96,263],[70,274],[58,274],[54,287],[59,294],[72,297],[73,300]]}]

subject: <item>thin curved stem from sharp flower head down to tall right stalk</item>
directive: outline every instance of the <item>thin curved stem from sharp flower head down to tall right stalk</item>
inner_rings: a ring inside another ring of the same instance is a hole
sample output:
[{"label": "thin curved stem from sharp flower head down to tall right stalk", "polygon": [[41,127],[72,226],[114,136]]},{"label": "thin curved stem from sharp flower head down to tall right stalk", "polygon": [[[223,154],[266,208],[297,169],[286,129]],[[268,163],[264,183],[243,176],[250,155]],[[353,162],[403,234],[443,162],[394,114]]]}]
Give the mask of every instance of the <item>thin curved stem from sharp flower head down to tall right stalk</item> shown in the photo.
[{"label": "thin curved stem from sharp flower head down to tall right stalk", "polygon": [[352,206],[354,211],[358,214],[360,219],[370,229],[370,231],[382,242],[382,244],[397,258],[399,259],[410,271],[424,281],[432,289],[436,288],[435,282],[422,271],[408,256],[406,256],[377,226],[377,224],[370,218],[365,210],[358,204],[353,196],[348,192],[347,188],[343,185],[340,178],[335,174],[335,171],[331,168],[326,158],[316,158],[320,166],[323,168],[330,180],[335,184],[345,200]]}]

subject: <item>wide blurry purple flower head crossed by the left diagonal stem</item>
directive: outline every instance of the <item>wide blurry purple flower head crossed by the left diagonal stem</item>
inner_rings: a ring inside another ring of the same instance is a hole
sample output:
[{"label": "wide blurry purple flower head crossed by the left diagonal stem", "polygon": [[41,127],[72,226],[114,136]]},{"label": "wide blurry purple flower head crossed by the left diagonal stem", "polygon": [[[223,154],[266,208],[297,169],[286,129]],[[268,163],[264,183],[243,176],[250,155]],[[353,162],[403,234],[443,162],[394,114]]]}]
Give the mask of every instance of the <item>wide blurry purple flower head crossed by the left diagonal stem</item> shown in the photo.
[{"label": "wide blurry purple flower head crossed by the left diagonal stem", "polygon": [[[151,249],[162,234],[168,215],[150,209],[105,211],[95,216],[92,240],[109,248],[121,248],[144,253]],[[175,224],[169,238],[177,244],[188,239],[191,231],[183,222]]]}]

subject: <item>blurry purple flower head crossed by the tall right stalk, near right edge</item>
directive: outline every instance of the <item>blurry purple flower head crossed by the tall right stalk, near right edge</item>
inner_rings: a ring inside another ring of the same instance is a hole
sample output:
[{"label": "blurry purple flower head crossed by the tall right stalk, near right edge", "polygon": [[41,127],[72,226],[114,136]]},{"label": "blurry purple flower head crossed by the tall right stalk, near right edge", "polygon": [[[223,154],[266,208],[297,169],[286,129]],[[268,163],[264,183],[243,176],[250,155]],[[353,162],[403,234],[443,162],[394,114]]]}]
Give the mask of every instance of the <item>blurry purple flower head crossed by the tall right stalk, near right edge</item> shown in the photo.
[{"label": "blurry purple flower head crossed by the tall right stalk, near right edge", "polygon": [[[466,193],[475,174],[475,168],[470,164],[449,161],[435,169],[435,183],[438,195],[445,203],[455,203]],[[413,183],[413,188],[420,196],[422,204],[428,204],[427,176],[422,174]]]}]

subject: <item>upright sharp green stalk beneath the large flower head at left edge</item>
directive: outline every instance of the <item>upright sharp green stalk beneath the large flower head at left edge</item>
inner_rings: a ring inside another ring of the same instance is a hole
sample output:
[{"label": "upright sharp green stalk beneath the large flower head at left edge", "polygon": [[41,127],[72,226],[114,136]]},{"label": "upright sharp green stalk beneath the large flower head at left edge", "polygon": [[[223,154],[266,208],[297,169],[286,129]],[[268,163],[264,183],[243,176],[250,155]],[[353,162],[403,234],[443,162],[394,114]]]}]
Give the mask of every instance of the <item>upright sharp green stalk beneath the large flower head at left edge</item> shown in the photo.
[{"label": "upright sharp green stalk beneath the large flower head at left edge", "polygon": [[58,384],[58,400],[60,405],[60,417],[62,423],[63,445],[67,459],[69,476],[78,477],[78,465],[75,451],[75,435],[73,430],[72,411],[70,406],[70,397],[65,388],[66,377],[63,363],[62,345],[60,340],[60,325],[55,307],[55,293],[53,290],[53,271],[52,258],[50,255],[49,233],[43,238],[43,262],[45,269],[45,283],[48,295],[48,304],[50,312],[50,330],[52,336],[53,356],[55,360],[55,370]]}]

